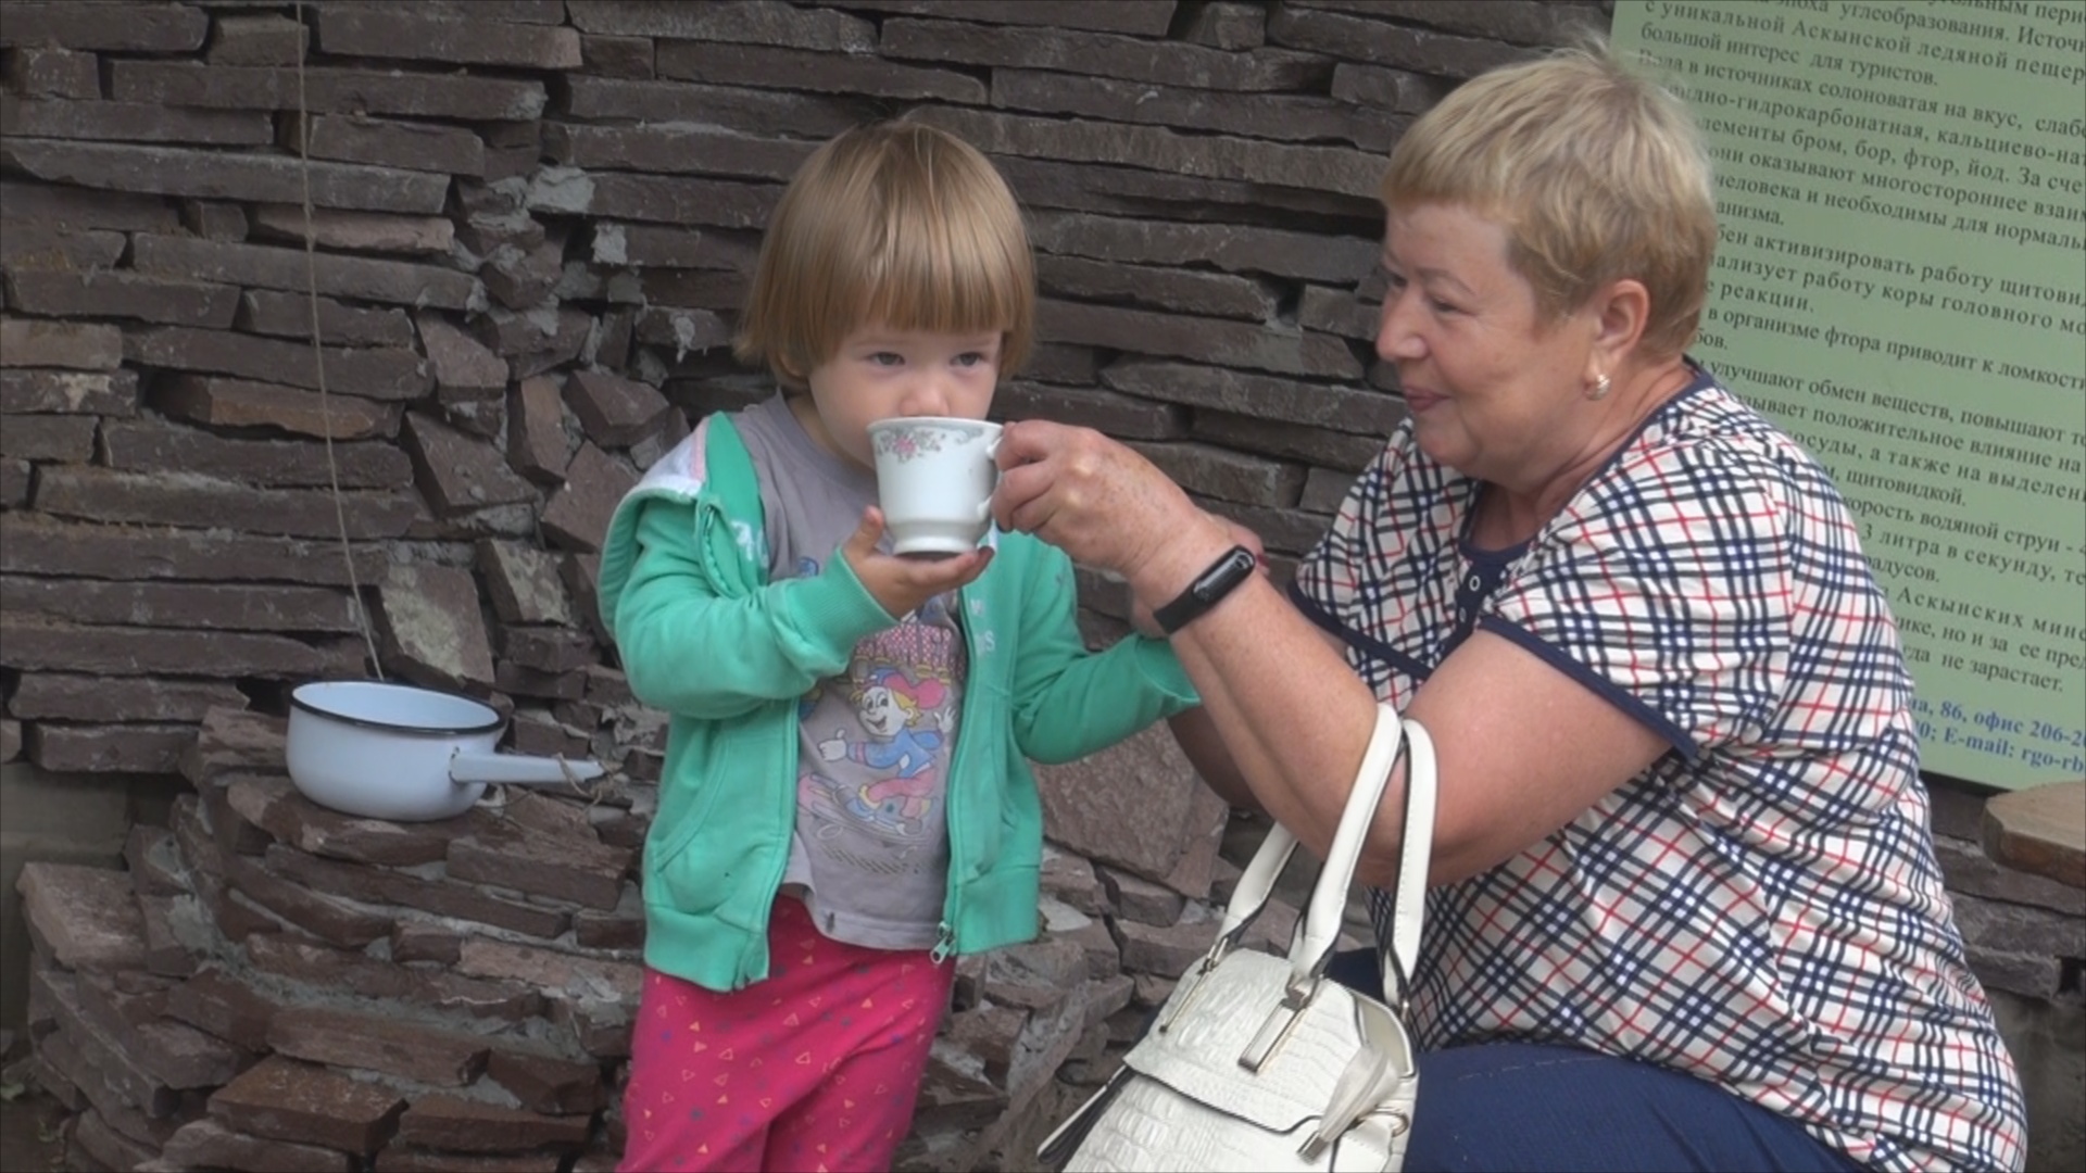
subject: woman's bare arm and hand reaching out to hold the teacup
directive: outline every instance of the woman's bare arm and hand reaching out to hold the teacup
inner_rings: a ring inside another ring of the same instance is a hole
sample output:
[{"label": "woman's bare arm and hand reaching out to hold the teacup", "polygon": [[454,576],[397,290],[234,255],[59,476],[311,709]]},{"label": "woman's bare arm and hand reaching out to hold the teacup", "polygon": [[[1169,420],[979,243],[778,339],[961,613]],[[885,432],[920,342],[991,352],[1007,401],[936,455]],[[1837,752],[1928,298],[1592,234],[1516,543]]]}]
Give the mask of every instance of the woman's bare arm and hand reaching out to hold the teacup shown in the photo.
[{"label": "woman's bare arm and hand reaching out to hold the teacup", "polygon": [[[1145,607],[1170,601],[1231,547],[1220,520],[1097,432],[1016,424],[1001,461],[1012,463],[1001,480],[1003,522],[1124,574]],[[1375,695],[1262,576],[1179,630],[1172,645],[1258,806],[1325,854],[1375,726]],[[1498,864],[1667,749],[1606,699],[1489,632],[1464,641],[1406,716],[1427,726],[1439,758],[1435,881]],[[1206,747],[1206,733],[1193,724],[1191,733]],[[1212,774],[1229,779],[1216,766]],[[1396,875],[1402,795],[1404,779],[1393,776],[1364,852],[1364,881]]]}]

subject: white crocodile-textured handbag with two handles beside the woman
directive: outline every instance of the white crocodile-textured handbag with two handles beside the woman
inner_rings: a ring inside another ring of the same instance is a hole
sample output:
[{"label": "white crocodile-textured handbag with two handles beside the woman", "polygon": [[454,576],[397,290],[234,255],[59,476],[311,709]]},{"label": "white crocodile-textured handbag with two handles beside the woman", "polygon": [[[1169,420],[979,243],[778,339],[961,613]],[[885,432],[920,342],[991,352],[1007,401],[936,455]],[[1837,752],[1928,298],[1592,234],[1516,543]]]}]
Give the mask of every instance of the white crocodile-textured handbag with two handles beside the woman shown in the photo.
[{"label": "white crocodile-textured handbag with two handles beside the woman", "polygon": [[[1406,833],[1391,948],[1379,943],[1383,1002],[1325,977],[1354,864],[1406,753]],[[1295,849],[1277,827],[1254,854],[1210,954],[1181,977],[1122,1069],[1039,1152],[1068,1171],[1368,1169],[1404,1165],[1418,1092],[1402,1021],[1418,958],[1433,843],[1433,741],[1377,705],[1377,731],[1348,795],[1289,958],[1241,950]]]}]

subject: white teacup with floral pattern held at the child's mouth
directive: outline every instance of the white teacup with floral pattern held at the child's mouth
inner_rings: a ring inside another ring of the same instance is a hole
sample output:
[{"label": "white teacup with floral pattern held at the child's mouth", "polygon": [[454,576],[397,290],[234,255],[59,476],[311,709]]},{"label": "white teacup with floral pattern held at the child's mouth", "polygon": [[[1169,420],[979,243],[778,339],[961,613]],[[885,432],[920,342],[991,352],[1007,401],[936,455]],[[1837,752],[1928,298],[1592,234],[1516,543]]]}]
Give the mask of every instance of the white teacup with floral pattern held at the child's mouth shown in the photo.
[{"label": "white teacup with floral pattern held at the child's mouth", "polygon": [[891,553],[964,553],[993,524],[999,424],[909,415],[870,424]]}]

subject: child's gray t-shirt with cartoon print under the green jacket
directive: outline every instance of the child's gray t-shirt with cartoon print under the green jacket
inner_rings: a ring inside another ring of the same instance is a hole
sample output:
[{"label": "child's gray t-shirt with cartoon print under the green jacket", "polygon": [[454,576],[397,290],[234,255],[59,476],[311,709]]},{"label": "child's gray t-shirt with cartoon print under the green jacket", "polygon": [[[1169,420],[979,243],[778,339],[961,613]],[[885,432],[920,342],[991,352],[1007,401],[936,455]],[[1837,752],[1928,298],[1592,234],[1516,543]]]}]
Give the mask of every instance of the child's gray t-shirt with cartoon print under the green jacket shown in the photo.
[{"label": "child's gray t-shirt with cartoon print under the green jacket", "polygon": [[[780,394],[734,422],[759,474],[768,578],[818,574],[876,503],[876,474],[811,442]],[[878,950],[937,943],[966,668],[949,593],[859,641],[847,670],[797,703],[797,831],[782,889],[803,897],[820,933]]]}]

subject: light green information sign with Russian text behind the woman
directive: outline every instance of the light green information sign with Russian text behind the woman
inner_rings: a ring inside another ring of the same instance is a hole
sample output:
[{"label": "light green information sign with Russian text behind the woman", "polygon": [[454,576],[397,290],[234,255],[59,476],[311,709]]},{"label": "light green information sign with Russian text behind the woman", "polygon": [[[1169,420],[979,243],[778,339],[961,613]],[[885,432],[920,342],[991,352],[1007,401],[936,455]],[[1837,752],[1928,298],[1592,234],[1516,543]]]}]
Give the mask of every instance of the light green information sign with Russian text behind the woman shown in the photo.
[{"label": "light green information sign with Russian text behind the woman", "polygon": [[1694,355],[1840,482],[1927,770],[2086,776],[2086,0],[1619,0],[1717,167]]}]

